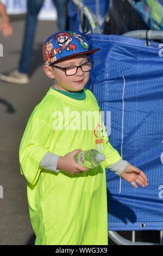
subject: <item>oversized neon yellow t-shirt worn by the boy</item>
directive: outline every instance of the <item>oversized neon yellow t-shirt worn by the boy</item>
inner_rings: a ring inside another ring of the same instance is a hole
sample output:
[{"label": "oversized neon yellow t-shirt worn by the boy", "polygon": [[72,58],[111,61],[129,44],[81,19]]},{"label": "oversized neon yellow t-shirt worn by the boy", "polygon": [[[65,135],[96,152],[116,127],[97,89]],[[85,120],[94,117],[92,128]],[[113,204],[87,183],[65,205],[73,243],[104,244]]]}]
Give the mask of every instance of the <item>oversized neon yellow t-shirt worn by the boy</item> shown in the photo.
[{"label": "oversized neon yellow t-shirt worn by the boy", "polygon": [[[50,88],[30,115],[22,137],[20,167],[27,179],[36,245],[108,244],[105,167],[121,156],[108,142],[104,125],[102,132],[95,96],[84,91],[85,100],[76,100]],[[106,160],[74,175],[39,167],[48,151],[64,156],[80,148],[97,149]]]}]

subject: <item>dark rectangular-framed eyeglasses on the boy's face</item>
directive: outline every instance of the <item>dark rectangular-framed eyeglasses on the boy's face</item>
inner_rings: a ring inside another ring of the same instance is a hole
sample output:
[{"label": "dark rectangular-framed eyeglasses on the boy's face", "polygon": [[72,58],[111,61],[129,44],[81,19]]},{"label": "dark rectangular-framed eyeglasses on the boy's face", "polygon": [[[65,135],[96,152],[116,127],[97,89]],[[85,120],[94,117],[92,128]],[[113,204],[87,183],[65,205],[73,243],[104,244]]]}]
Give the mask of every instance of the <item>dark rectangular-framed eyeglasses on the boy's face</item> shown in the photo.
[{"label": "dark rectangular-framed eyeglasses on the boy's face", "polygon": [[92,64],[93,64],[93,62],[89,61],[89,62],[83,63],[80,66],[67,66],[66,68],[61,68],[61,66],[55,66],[55,65],[52,65],[52,66],[54,66],[54,68],[61,69],[61,70],[65,71],[65,74],[67,76],[73,76],[77,73],[78,68],[81,68],[83,72],[90,71],[92,69]]}]

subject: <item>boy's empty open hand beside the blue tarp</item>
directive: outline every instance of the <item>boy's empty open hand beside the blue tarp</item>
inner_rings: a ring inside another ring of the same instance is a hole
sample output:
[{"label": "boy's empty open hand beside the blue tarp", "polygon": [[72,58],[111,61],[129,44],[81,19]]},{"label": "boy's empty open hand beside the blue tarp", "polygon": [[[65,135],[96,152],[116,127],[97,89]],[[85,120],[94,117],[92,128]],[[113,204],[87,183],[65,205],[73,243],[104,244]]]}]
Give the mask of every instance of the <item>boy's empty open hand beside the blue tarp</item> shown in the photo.
[{"label": "boy's empty open hand beside the blue tarp", "polygon": [[131,164],[128,164],[128,166],[123,170],[121,177],[130,182],[130,184],[135,188],[137,188],[136,182],[142,187],[146,187],[148,185],[146,174]]}]

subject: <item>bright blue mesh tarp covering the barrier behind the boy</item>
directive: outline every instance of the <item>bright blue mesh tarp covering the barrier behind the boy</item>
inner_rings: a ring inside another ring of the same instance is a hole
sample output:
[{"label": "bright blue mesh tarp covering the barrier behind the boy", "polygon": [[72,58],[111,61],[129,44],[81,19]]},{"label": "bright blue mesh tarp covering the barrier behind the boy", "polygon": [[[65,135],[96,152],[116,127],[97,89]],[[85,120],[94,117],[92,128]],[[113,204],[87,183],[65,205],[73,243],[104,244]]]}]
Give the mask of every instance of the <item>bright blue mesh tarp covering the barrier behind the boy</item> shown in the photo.
[{"label": "bright blue mesh tarp covering the barrier behind the boy", "polygon": [[135,189],[106,169],[108,228],[162,230],[163,45],[146,46],[145,40],[121,35],[90,34],[87,39],[91,47],[101,48],[92,56],[87,88],[105,114],[111,111],[109,141],[149,181],[146,188]]}]

